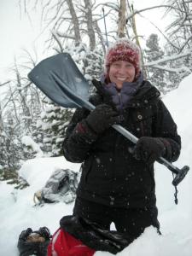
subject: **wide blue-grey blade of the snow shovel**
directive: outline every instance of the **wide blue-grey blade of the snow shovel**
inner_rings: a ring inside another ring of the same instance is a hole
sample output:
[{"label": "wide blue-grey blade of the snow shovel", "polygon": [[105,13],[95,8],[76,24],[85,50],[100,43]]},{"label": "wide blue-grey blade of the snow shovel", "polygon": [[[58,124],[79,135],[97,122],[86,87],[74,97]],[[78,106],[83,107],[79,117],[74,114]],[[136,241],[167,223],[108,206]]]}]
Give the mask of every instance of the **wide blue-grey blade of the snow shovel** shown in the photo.
[{"label": "wide blue-grey blade of the snow shovel", "polygon": [[61,53],[53,55],[44,61],[40,61],[38,65],[28,73],[28,78],[53,102],[56,102],[62,107],[81,107],[77,102],[68,98],[64,91],[61,90],[61,84],[57,84],[52,73],[55,73],[75,95],[88,101],[90,84],[84,79],[83,74],[80,73],[71,55]]}]

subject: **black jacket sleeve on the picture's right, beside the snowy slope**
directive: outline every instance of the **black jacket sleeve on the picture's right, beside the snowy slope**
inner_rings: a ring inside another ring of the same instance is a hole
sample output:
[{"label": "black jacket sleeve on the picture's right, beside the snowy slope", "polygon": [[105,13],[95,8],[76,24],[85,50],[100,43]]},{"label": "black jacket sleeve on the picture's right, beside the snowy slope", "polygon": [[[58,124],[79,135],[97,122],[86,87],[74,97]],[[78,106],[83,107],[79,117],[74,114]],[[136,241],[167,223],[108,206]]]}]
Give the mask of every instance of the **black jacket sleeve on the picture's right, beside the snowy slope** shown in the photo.
[{"label": "black jacket sleeve on the picture's right, beside the snowy slope", "polygon": [[163,157],[171,162],[176,161],[181,150],[181,137],[177,134],[177,125],[171,113],[160,99],[156,104],[153,126],[153,136],[160,137],[166,147],[166,154]]}]

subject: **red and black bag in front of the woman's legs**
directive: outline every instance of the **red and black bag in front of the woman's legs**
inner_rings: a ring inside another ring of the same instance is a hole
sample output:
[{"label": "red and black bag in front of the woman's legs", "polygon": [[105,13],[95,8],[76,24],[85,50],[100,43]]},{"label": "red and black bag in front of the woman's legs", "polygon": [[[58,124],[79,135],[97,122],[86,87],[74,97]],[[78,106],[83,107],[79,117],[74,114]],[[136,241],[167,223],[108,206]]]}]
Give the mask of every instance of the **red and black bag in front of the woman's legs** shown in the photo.
[{"label": "red and black bag in front of the woman's legs", "polygon": [[91,256],[96,251],[116,254],[133,241],[125,234],[103,230],[97,224],[77,216],[61,218],[60,225],[49,243],[49,256]]}]

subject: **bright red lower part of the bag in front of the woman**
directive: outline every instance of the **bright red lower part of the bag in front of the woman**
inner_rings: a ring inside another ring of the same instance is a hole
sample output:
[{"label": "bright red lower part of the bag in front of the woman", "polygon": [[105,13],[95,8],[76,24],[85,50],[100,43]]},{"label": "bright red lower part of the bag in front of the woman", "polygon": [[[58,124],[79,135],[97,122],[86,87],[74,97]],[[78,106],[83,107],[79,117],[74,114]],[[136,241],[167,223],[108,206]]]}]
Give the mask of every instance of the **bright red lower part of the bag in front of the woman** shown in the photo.
[{"label": "bright red lower part of the bag in front of the woman", "polygon": [[87,247],[65,230],[56,230],[48,246],[48,256],[92,256],[96,251]]}]

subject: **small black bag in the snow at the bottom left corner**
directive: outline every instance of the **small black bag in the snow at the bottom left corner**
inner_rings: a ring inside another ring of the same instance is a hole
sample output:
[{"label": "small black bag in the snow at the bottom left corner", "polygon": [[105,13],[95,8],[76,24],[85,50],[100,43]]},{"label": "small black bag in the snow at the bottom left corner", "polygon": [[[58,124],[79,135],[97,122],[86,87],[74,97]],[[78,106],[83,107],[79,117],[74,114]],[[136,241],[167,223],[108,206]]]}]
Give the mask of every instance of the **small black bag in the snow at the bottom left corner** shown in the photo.
[{"label": "small black bag in the snow at the bottom left corner", "polygon": [[20,256],[46,256],[50,237],[49,229],[46,227],[37,231],[32,231],[31,228],[23,230],[17,244]]}]

